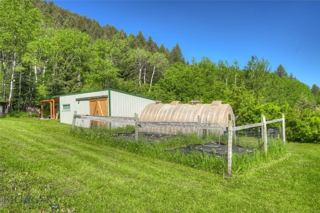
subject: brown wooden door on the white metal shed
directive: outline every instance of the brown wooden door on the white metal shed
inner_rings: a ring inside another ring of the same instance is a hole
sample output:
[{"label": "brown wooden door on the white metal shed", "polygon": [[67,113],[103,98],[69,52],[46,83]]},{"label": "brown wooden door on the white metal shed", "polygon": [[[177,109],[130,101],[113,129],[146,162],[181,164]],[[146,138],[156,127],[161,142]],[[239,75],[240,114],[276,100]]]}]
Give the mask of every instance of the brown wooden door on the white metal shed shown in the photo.
[{"label": "brown wooden door on the white metal shed", "polygon": [[[93,116],[108,116],[108,100],[107,98],[90,99],[90,115]],[[90,121],[90,126],[107,127],[107,122]]]}]

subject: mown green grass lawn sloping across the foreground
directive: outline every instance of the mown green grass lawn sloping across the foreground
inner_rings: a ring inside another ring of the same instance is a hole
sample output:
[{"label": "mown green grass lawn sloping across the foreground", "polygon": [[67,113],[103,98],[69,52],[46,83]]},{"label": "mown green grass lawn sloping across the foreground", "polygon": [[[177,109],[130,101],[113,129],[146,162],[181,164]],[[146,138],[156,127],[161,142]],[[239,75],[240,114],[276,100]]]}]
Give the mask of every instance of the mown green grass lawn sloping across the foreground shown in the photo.
[{"label": "mown green grass lawn sloping across the foreground", "polygon": [[320,212],[320,145],[287,148],[225,178],[74,137],[55,120],[2,118],[0,213]]}]

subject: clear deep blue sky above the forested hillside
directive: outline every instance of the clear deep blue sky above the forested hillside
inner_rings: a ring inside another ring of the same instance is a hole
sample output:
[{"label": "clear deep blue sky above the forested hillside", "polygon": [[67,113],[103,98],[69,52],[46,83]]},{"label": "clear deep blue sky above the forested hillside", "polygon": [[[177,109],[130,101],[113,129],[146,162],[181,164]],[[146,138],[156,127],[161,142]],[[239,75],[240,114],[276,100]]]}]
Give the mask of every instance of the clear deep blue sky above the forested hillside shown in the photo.
[{"label": "clear deep blue sky above the forested hillside", "polygon": [[53,0],[71,12],[123,29],[139,30],[186,61],[207,56],[217,63],[251,55],[282,64],[299,81],[320,87],[320,1],[107,1]]}]

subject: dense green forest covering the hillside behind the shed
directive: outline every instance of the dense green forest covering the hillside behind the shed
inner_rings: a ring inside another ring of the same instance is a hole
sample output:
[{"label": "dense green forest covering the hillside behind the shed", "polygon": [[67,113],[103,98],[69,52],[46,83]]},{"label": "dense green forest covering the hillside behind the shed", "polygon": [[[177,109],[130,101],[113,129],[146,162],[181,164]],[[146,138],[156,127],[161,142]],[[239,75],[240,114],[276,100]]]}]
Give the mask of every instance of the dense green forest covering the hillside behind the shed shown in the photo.
[{"label": "dense green forest covering the hillside behind the shed", "polygon": [[285,114],[287,139],[320,143],[320,88],[266,59],[185,61],[141,31],[127,35],[45,0],[0,0],[0,100],[12,110],[46,96],[114,88],[169,103],[222,100],[238,124]]}]

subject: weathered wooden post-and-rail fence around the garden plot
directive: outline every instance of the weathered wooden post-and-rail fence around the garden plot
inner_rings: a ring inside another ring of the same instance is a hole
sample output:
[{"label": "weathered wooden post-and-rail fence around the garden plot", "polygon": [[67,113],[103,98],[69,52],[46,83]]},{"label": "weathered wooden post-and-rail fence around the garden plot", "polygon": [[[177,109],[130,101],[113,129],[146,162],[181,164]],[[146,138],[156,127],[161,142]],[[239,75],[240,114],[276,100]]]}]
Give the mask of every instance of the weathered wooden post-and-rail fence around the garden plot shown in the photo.
[{"label": "weathered wooden post-and-rail fence around the garden plot", "polygon": [[[199,117],[199,116],[198,116]],[[261,136],[262,143],[264,147],[264,152],[267,153],[267,131],[266,125],[276,122],[282,122],[282,140],[285,144],[285,120],[284,114],[282,114],[282,118],[266,121],[265,117],[261,115],[261,122],[256,124],[248,124],[244,126],[233,127],[232,122],[228,121],[228,127],[212,127],[212,126],[201,126],[199,120],[197,122],[139,122],[138,115],[135,114],[134,117],[112,117],[112,116],[88,116],[88,115],[76,115],[76,111],[74,111],[73,122],[72,122],[72,130],[75,126],[75,119],[84,119],[84,120],[94,120],[94,121],[102,121],[109,123],[117,123],[117,124],[125,124],[135,126],[135,139],[138,139],[138,130],[141,127],[154,127],[154,126],[171,126],[171,127],[181,127],[181,128],[194,128],[197,130],[198,135],[202,134],[202,130],[219,130],[219,131],[227,131],[228,132],[228,143],[227,143],[227,171],[228,175],[231,176],[231,168],[232,168],[232,141],[233,137],[235,137],[235,131],[249,129],[253,127],[261,127]]]}]

